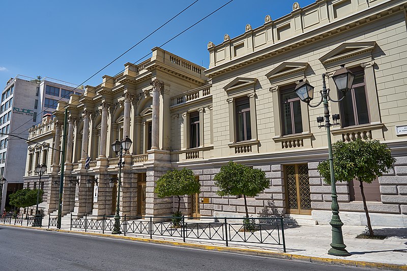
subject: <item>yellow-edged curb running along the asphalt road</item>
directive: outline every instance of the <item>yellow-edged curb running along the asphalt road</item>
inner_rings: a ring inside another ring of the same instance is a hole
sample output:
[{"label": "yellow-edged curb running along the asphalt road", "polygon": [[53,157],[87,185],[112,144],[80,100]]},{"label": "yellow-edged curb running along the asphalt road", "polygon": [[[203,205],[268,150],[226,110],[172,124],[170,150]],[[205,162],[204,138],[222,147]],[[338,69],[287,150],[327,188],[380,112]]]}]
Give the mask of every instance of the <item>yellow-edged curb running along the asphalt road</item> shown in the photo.
[{"label": "yellow-edged curb running along the asphalt road", "polygon": [[[2,225],[0,224],[0,226],[2,226]],[[124,235],[103,234],[103,233],[97,233],[97,232],[83,232],[83,231],[73,231],[73,230],[36,228],[36,227],[27,227],[27,226],[20,226],[20,225],[7,225],[7,224],[4,224],[3,226],[34,229],[34,230],[55,231],[55,232],[63,232],[63,233],[75,233],[75,234],[82,234],[82,235],[92,235],[92,236],[99,236],[99,237],[105,237],[105,238],[133,240],[133,241],[143,242],[143,243],[154,243],[154,244],[170,245],[170,246],[176,246],[176,247],[238,253],[238,254],[262,256],[262,257],[270,257],[270,258],[278,258],[278,259],[286,259],[286,260],[300,260],[300,261],[323,263],[323,264],[336,264],[336,265],[347,265],[347,266],[365,267],[365,268],[376,268],[376,269],[386,269],[386,270],[406,270],[407,271],[407,265],[392,264],[392,263],[331,259],[331,258],[289,254],[289,253],[283,253],[283,252],[272,252],[272,251],[266,251],[266,250],[242,249],[242,248],[234,248],[234,247],[222,247],[222,246],[216,246],[216,245],[200,245],[200,244],[183,243],[183,242],[168,241],[168,240],[131,237],[131,236],[124,236]]]}]

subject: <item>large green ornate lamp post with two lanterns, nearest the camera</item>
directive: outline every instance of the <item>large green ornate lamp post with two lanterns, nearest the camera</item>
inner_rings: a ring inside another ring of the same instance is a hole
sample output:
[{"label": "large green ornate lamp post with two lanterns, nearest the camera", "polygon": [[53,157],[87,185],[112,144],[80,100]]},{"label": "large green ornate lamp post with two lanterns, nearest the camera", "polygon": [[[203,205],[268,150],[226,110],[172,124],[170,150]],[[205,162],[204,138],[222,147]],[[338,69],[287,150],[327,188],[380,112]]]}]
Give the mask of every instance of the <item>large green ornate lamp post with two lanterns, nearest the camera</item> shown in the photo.
[{"label": "large green ornate lamp post with two lanterns, nearest the camera", "polygon": [[342,235],[342,226],[343,223],[339,218],[339,205],[338,205],[338,196],[336,194],[336,186],[335,186],[335,174],[334,174],[334,164],[333,164],[333,156],[332,156],[332,142],[331,142],[331,126],[338,125],[339,115],[335,114],[332,116],[334,124],[330,123],[329,119],[329,108],[328,108],[328,101],[332,102],[340,102],[346,95],[346,92],[352,89],[353,80],[355,79],[355,75],[345,68],[344,65],[341,66],[339,70],[337,70],[334,75],[332,76],[338,91],[343,93],[343,97],[336,101],[330,98],[329,92],[330,89],[327,89],[325,84],[325,74],[322,74],[322,91],[321,93],[321,101],[317,105],[310,105],[309,102],[313,99],[313,90],[314,87],[307,82],[303,82],[302,80],[296,86],[295,92],[297,93],[300,99],[307,103],[309,107],[317,107],[321,103],[324,103],[324,117],[325,117],[325,125],[322,125],[324,122],[323,117],[317,117],[318,127],[325,127],[327,129],[327,136],[328,136],[328,153],[329,153],[329,167],[331,171],[331,197],[332,197],[332,219],[329,224],[332,226],[332,243],[331,249],[328,251],[328,254],[335,255],[335,256],[350,256],[349,252],[346,251],[346,245],[343,243],[343,235]]}]

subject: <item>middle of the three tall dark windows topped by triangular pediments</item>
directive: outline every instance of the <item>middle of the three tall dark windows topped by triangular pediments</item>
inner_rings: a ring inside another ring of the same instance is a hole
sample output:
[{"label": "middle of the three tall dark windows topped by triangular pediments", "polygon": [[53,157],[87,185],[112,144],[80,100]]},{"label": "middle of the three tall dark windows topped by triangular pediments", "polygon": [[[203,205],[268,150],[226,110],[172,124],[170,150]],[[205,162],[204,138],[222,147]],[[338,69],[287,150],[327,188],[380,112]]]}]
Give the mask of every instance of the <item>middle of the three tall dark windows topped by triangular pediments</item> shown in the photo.
[{"label": "middle of the three tall dark windows topped by triangular pediments", "polygon": [[281,120],[283,135],[302,133],[301,101],[294,92],[295,85],[281,87]]}]

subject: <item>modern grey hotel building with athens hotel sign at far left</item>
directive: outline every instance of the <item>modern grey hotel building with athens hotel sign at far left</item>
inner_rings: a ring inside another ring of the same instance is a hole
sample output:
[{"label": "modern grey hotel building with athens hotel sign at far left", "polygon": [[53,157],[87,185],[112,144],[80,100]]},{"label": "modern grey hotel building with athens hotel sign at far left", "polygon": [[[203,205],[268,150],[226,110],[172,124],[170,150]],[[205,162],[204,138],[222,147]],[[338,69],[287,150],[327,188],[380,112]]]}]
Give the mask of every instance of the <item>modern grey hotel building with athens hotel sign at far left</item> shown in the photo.
[{"label": "modern grey hotel building with athens hotel sign at far left", "polygon": [[[22,188],[28,129],[41,123],[42,116],[55,110],[57,102],[68,101],[75,85],[52,79],[34,79],[22,75],[10,78],[1,96],[0,107],[0,177],[6,179],[1,209],[7,207],[9,194]],[[75,89],[76,94],[83,93]]]}]

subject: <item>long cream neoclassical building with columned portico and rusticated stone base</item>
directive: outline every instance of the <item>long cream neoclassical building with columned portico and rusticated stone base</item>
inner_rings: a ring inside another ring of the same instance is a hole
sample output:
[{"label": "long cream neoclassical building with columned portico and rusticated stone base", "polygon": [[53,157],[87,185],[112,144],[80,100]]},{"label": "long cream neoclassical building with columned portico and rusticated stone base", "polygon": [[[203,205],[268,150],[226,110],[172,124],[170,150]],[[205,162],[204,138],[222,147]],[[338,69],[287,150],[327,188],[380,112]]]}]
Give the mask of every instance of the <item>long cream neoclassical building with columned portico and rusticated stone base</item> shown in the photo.
[{"label": "long cream neoclassical building with columned portico and rusticated stone base", "polygon": [[[356,138],[386,142],[396,157],[395,170],[366,185],[373,225],[407,226],[407,59],[406,1],[321,0],[252,28],[218,45],[208,44],[208,69],[160,48],[147,61],[125,64],[117,76],[103,76],[98,86],[60,103],[30,139],[60,148],[64,109],[69,111],[63,213],[114,213],[118,158],[110,144],[133,141],[122,170],[121,212],[128,216],[168,215],[173,199],[154,194],[155,181],[168,169],[187,167],[201,181],[201,193],[183,198],[191,217],[242,216],[241,197],[219,197],[214,175],[230,160],[264,170],[271,187],[248,199],[256,215],[284,215],[299,223],[327,224],[331,188],[316,166],[327,159],[325,128],[294,93],[299,80],[315,86],[315,102],[327,77],[330,96],[342,98],[332,75],[345,65],[355,75],[340,103],[330,102],[339,121],[333,141]],[[311,102],[313,104],[313,102]],[[48,142],[48,141],[46,141]],[[32,144],[32,143],[30,143]],[[32,184],[33,158],[44,146],[28,148],[25,182]],[[86,154],[91,168],[85,169]],[[46,210],[57,207],[60,156],[53,152],[46,183]],[[36,160],[37,161],[37,160]],[[40,160],[38,160],[40,161]],[[76,185],[76,180],[78,183]],[[71,186],[69,183],[71,182]],[[86,183],[92,183],[87,188]],[[74,185],[72,185],[74,184]],[[338,183],[341,219],[364,225],[357,183]],[[44,205],[44,206],[45,206]]]}]

